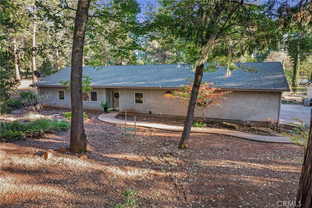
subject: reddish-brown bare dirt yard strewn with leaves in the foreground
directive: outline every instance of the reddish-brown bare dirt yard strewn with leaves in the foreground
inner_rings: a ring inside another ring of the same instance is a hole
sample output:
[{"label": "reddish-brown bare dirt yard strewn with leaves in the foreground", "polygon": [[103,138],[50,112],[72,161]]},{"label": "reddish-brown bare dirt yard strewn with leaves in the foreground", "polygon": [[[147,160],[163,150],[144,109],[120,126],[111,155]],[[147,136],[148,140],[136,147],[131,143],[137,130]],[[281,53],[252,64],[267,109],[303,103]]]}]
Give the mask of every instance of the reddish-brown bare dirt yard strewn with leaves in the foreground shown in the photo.
[{"label": "reddish-brown bare dirt yard strewn with leaves in the foreground", "polygon": [[[42,114],[63,111],[69,110]],[[192,133],[190,148],[179,150],[179,132],[138,128],[134,136],[133,128],[98,120],[100,112],[87,115],[89,159],[56,151],[48,160],[38,156],[68,147],[70,131],[0,144],[1,208],[114,207],[129,188],[137,189],[139,207],[262,208],[295,199],[301,146]]]}]

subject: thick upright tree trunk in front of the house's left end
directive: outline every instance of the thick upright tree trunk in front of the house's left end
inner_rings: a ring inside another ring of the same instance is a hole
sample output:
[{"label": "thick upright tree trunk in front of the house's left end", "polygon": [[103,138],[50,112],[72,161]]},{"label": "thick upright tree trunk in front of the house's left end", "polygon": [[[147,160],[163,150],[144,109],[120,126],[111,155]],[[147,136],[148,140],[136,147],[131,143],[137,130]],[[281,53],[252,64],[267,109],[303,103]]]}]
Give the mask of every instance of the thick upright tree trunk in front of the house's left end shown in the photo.
[{"label": "thick upright tree trunk in front of the house's left end", "polygon": [[83,124],[82,59],[90,2],[90,0],[78,1],[73,35],[71,54],[71,143],[69,146],[69,150],[73,153],[89,150],[88,136]]}]

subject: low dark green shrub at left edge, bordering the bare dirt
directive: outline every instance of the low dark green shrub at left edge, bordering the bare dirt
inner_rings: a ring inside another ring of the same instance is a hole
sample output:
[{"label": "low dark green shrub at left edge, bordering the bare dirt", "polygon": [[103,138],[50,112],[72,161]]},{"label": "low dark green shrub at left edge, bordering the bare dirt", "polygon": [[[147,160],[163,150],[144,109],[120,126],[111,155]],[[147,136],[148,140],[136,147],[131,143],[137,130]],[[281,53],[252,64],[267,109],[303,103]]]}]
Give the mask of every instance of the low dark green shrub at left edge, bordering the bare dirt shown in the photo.
[{"label": "low dark green shrub at left edge, bordering the bare dirt", "polygon": [[18,121],[1,122],[1,142],[12,142],[22,139],[25,136],[26,125]]}]

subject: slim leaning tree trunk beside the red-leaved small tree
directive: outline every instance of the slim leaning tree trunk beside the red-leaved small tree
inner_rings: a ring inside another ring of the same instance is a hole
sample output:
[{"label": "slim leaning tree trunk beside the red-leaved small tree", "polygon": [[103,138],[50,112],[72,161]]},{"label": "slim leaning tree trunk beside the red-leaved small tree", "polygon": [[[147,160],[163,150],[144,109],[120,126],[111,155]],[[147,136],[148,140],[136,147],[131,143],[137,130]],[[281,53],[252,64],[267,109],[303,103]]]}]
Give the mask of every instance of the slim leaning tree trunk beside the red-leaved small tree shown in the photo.
[{"label": "slim leaning tree trunk beside the red-leaved small tree", "polygon": [[179,143],[180,149],[188,148],[188,138],[191,134],[191,127],[193,124],[195,105],[197,101],[197,95],[202,82],[202,73],[204,71],[204,65],[199,65],[196,67],[193,88],[190,96],[190,101],[188,102],[188,113],[186,115],[186,121],[183,128],[182,137]]}]

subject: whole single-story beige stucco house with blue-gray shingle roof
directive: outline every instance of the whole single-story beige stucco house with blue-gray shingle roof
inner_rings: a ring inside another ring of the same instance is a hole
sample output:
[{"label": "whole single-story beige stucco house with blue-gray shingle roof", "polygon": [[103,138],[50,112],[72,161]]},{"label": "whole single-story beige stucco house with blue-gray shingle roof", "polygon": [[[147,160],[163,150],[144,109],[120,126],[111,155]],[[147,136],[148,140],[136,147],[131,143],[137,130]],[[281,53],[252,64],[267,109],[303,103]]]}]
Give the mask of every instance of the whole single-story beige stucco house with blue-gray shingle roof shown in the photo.
[{"label": "whole single-story beige stucco house with blue-gray shingle roof", "polygon": [[[207,107],[205,117],[232,122],[267,123],[268,118],[279,121],[282,92],[290,91],[281,63],[238,64],[252,67],[256,73],[238,69],[224,78],[224,67],[204,73],[202,82],[213,82],[214,87],[222,91],[233,91],[226,95],[222,107]],[[187,65],[160,64],[83,67],[83,74],[92,78],[90,87],[93,88],[83,95],[84,109],[103,110],[101,101],[108,101],[109,107],[119,107],[127,113],[186,116],[186,104],[173,99],[172,94],[193,80],[195,73]],[[37,86],[40,93],[51,92],[47,107],[71,108],[70,90],[60,84],[70,80],[70,75],[71,67],[67,67],[30,86]],[[201,118],[202,112],[195,110],[194,117]]]}]

